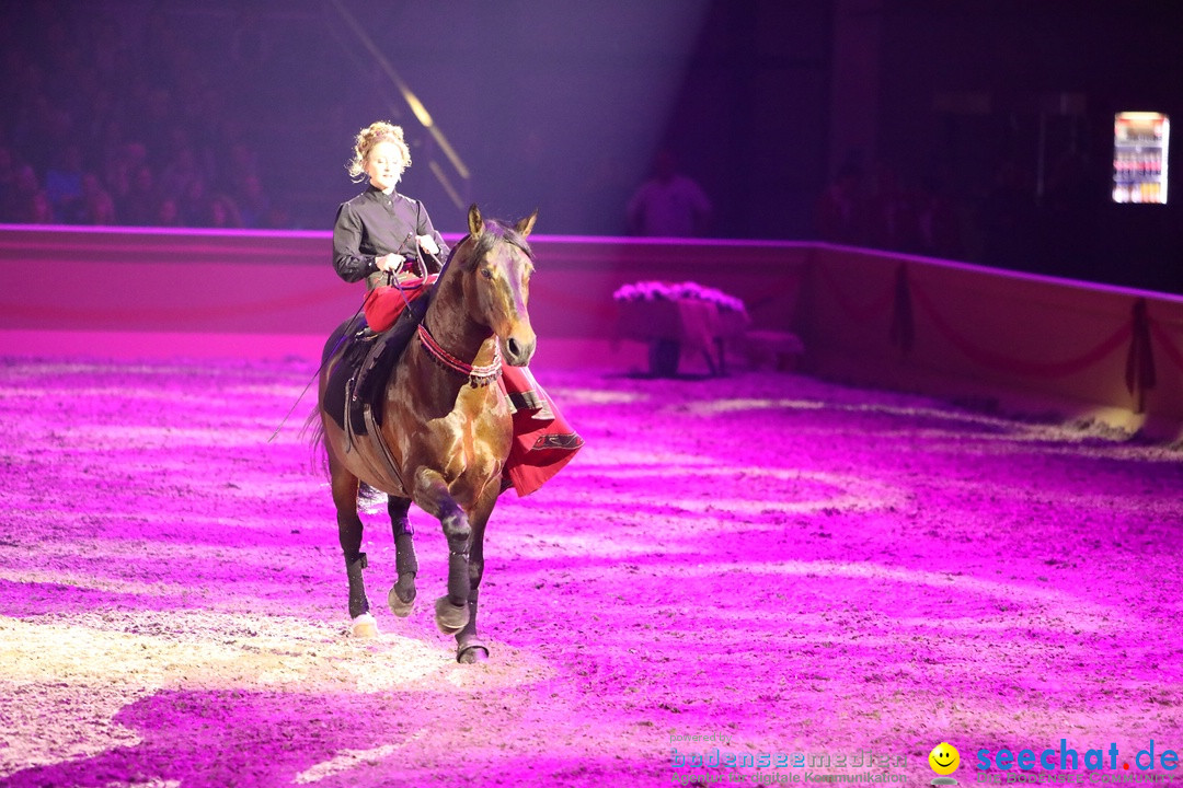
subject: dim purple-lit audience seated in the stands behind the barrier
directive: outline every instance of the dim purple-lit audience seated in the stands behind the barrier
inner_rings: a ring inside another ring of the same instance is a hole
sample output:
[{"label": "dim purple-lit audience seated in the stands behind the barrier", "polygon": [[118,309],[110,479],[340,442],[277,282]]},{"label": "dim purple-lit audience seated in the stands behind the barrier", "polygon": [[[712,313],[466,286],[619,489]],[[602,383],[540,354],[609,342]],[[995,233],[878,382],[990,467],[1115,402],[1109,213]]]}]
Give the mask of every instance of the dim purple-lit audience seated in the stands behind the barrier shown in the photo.
[{"label": "dim purple-lit audience seated in the stands behind the barrier", "polygon": [[[4,9],[0,222],[289,226],[233,109],[241,79],[195,67],[161,6],[137,40],[109,15],[73,8]],[[237,67],[269,54],[258,19],[243,18]]]}]

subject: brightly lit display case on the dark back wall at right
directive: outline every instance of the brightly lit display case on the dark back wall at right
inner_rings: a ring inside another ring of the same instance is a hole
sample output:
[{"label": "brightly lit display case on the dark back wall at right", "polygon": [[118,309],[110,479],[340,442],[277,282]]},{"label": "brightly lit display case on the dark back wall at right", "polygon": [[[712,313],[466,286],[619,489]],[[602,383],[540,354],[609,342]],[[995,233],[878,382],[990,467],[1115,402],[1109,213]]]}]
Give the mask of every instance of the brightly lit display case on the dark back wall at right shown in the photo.
[{"label": "brightly lit display case on the dark back wall at right", "polygon": [[1118,112],[1113,118],[1113,202],[1166,203],[1170,118]]}]

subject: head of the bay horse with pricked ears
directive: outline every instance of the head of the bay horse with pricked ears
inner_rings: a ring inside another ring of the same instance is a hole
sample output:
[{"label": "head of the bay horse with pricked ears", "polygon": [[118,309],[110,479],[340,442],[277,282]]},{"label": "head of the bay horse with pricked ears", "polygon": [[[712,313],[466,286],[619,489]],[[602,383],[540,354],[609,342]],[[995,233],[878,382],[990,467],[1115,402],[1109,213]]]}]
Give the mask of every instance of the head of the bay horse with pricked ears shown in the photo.
[{"label": "head of the bay horse with pricked ears", "polygon": [[526,311],[534,255],[525,240],[537,217],[536,210],[509,228],[481,217],[477,206],[472,206],[468,208],[468,237],[465,239],[468,248],[455,260],[465,273],[464,300],[468,317],[489,326],[497,336],[505,362],[513,366],[529,364],[537,345]]}]

